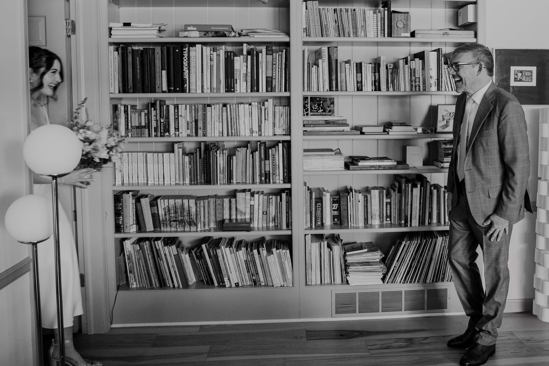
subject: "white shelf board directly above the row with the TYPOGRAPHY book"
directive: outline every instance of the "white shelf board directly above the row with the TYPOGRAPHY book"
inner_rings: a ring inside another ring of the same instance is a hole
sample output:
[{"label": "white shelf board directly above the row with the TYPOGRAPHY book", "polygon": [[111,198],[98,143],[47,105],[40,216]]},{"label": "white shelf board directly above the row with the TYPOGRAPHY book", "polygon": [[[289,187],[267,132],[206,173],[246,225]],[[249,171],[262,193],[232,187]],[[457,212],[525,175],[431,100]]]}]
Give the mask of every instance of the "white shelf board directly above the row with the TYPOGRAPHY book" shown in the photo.
[{"label": "white shelf board directly above the row with the TYPOGRAPHY book", "polygon": [[290,37],[164,37],[109,38],[109,43],[273,43],[290,42]]}]

